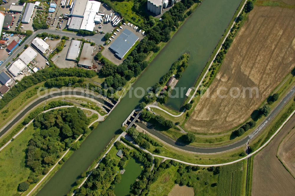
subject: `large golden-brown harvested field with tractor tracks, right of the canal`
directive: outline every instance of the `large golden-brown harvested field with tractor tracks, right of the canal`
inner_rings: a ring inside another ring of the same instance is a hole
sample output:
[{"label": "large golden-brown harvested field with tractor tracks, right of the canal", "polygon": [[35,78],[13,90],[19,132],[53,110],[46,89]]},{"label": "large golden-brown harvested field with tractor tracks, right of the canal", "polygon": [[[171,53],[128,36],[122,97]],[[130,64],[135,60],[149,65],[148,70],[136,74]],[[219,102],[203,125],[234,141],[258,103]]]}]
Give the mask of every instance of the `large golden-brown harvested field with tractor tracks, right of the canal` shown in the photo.
[{"label": "large golden-brown harvested field with tractor tracks, right of the canal", "polygon": [[[266,100],[295,66],[294,12],[274,6],[254,7],[219,73],[186,122],[186,129],[198,133],[230,130]],[[257,88],[258,95],[255,89],[251,93],[245,89],[249,87]]]}]

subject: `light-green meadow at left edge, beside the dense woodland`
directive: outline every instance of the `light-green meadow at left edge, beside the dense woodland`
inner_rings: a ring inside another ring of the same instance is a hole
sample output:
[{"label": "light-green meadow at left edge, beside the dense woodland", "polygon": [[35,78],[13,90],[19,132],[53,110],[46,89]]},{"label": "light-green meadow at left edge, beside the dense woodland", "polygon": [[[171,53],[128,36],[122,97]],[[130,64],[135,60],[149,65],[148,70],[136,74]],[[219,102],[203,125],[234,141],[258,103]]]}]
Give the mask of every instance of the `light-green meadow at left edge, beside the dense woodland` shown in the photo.
[{"label": "light-green meadow at left edge, beside the dense woodland", "polygon": [[0,152],[1,195],[17,194],[19,183],[28,179],[30,169],[25,167],[25,149],[33,133],[31,124]]}]

